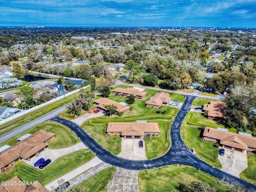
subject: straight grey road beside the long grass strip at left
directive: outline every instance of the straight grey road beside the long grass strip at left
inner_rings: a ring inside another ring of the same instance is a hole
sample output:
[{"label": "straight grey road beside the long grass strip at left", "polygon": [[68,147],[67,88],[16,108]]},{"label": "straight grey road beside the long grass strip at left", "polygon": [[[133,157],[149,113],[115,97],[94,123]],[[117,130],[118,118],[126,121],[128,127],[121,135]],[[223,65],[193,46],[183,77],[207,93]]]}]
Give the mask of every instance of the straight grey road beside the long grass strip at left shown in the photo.
[{"label": "straight grey road beside the long grass strip at left", "polygon": [[49,113],[47,113],[43,116],[40,116],[40,117],[38,117],[38,118],[36,118],[36,119],[26,123],[26,124],[23,124],[22,126],[19,126],[15,129],[9,131],[9,132],[6,132],[5,134],[2,134],[0,136],[0,143],[18,135],[18,134],[20,134],[20,133],[22,133],[22,132],[24,132],[24,131],[26,131],[26,130],[34,127],[34,126],[36,126],[39,123],[42,123],[42,122],[46,121],[47,119],[51,118],[52,116],[58,115],[60,112],[66,110],[67,105],[68,104],[66,104],[66,105],[64,105],[64,106],[62,106],[58,109],[55,109],[55,110],[53,110],[53,111],[51,111],[51,112],[49,112]]}]

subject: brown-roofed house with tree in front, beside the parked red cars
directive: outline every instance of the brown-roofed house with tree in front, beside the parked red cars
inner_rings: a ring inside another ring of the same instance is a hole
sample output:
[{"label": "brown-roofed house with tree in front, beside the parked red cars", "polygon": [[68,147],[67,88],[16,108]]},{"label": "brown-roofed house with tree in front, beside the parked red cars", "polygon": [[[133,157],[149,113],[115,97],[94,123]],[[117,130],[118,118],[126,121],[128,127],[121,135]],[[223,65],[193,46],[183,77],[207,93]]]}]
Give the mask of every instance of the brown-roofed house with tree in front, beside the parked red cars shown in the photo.
[{"label": "brown-roofed house with tree in front, beside the parked red cars", "polygon": [[106,110],[106,108],[105,108],[106,105],[112,105],[112,104],[117,106],[116,112],[126,113],[126,112],[130,111],[130,107],[120,104],[118,102],[114,102],[114,101],[106,99],[106,98],[99,98],[94,101],[94,105],[96,105],[98,108],[101,108],[103,110]]}]

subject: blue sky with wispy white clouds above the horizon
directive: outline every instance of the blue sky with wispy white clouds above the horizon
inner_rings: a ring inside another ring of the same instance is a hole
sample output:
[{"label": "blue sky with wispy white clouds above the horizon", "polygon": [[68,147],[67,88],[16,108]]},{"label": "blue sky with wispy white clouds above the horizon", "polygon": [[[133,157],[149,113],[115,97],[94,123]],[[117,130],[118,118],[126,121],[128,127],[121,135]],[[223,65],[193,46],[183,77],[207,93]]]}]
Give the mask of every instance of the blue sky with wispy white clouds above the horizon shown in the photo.
[{"label": "blue sky with wispy white clouds above the horizon", "polygon": [[0,26],[256,27],[256,0],[1,0]]}]

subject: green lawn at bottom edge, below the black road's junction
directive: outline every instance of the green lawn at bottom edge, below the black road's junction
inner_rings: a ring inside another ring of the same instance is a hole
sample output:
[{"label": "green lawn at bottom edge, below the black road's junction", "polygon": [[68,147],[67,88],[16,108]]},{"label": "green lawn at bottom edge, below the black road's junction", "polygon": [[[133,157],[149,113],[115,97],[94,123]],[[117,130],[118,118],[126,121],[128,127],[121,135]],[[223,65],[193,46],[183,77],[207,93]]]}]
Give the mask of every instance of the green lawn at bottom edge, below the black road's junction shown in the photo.
[{"label": "green lawn at bottom edge, below the black road's junction", "polygon": [[218,191],[227,191],[217,184],[216,178],[189,166],[164,166],[140,171],[138,175],[140,192],[174,192],[179,182],[190,184],[193,181],[207,183]]}]

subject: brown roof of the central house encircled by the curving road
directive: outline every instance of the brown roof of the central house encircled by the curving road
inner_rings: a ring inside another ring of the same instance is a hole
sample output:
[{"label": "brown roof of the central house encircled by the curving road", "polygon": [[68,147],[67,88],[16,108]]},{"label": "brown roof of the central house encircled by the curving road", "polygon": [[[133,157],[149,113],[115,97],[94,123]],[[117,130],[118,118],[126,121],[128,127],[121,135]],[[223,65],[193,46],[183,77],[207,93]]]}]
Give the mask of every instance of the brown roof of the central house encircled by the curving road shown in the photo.
[{"label": "brown roof of the central house encircled by the curving road", "polygon": [[157,123],[109,122],[106,132],[122,132],[122,136],[143,136],[144,132],[159,133],[159,128]]}]

